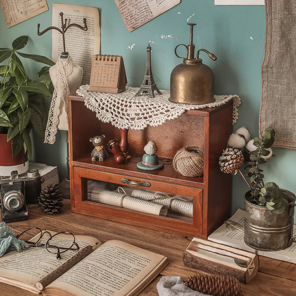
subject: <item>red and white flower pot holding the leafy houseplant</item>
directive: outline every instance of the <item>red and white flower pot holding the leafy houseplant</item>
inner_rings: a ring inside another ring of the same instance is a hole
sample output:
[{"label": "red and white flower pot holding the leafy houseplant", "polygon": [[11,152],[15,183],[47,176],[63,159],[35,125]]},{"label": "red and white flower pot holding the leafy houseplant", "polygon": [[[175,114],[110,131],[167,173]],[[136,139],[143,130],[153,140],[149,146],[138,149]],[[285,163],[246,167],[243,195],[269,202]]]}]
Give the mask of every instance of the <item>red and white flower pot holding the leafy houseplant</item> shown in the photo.
[{"label": "red and white flower pot holding the leafy houseplant", "polygon": [[0,134],[0,176],[9,176],[10,169],[17,170],[19,174],[28,170],[28,156],[24,148],[12,158],[12,140],[7,142],[7,134]]}]

